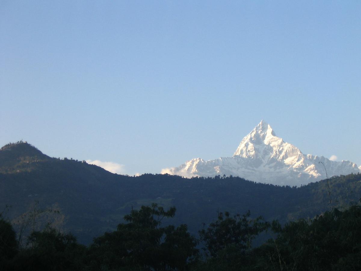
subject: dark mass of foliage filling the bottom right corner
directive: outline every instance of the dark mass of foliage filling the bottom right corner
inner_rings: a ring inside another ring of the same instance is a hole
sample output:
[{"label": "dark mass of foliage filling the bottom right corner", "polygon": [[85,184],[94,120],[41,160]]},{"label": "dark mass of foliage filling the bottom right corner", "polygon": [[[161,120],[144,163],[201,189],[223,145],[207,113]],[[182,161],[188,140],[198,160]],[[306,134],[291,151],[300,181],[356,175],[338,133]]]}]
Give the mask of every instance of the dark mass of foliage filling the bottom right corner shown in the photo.
[{"label": "dark mass of foliage filling the bottom right corner", "polygon": [[[316,216],[287,223],[283,228],[272,224],[278,233],[259,251],[275,269],[290,270],[360,270],[361,207],[337,208]],[[347,268],[345,266],[348,266]]]}]

